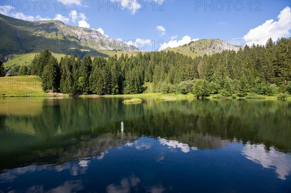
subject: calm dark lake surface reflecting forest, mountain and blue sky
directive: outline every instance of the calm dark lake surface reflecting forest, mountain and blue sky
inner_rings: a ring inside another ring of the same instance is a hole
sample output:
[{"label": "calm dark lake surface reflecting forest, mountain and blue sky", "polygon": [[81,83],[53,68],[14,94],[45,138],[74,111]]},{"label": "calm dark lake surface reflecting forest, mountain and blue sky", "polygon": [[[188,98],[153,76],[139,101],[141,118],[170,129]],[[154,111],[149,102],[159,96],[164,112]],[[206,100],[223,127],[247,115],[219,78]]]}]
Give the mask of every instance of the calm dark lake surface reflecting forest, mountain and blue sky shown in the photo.
[{"label": "calm dark lake surface reflecting forest, mountain and blue sky", "polygon": [[122,101],[0,98],[0,193],[291,192],[290,102]]}]

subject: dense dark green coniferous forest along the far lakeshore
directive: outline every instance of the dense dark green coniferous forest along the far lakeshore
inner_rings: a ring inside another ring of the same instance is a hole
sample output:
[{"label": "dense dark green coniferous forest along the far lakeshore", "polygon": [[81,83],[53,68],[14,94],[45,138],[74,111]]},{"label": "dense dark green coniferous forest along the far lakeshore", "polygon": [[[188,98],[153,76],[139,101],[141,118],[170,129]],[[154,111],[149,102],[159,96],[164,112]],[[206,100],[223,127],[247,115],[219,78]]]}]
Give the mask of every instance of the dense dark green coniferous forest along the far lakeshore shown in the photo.
[{"label": "dense dark green coniferous forest along the far lakeshore", "polygon": [[191,58],[171,51],[104,59],[65,56],[59,62],[49,50],[36,55],[19,74],[38,75],[44,91],[68,94],[135,94],[143,92],[221,94],[291,93],[291,38],[266,45],[245,45]]}]

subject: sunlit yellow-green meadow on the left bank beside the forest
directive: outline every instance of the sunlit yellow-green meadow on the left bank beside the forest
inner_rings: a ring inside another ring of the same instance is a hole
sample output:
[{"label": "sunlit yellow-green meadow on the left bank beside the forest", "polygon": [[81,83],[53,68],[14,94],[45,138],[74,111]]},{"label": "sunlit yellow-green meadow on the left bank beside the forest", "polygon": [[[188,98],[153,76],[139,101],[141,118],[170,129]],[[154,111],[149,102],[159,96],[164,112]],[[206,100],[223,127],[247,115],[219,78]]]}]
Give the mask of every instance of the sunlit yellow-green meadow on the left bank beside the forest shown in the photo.
[{"label": "sunlit yellow-green meadow on the left bank beside the forest", "polygon": [[38,76],[0,77],[0,96],[46,96]]}]

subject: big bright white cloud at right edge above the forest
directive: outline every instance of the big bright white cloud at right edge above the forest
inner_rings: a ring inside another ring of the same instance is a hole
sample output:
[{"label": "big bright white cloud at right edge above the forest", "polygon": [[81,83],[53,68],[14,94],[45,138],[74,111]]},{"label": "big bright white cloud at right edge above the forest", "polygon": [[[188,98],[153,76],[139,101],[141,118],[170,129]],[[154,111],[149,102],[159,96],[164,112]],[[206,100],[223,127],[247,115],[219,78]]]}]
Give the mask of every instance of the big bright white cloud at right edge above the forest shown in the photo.
[{"label": "big bright white cloud at right edge above the forest", "polygon": [[261,43],[266,45],[267,40],[271,37],[274,41],[281,37],[289,37],[291,30],[291,10],[285,7],[278,15],[278,21],[273,19],[267,20],[262,25],[251,29],[243,39],[247,44]]}]

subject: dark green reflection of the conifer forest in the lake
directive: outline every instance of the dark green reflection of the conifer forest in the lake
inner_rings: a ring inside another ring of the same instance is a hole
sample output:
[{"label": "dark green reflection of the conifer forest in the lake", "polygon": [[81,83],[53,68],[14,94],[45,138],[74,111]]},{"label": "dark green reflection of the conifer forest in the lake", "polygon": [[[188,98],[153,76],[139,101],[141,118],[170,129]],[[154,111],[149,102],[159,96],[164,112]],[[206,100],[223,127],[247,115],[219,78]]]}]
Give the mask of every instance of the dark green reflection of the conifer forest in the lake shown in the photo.
[{"label": "dark green reflection of the conifer forest in the lake", "polygon": [[[65,163],[70,159],[97,156],[143,135],[164,137],[198,148],[217,148],[235,139],[243,143],[263,143],[267,148],[275,146],[282,151],[291,149],[289,102],[144,100],[142,104],[125,105],[123,100],[45,99],[42,112],[37,116],[2,116],[1,125],[8,130],[1,129],[1,137],[5,134],[13,138],[15,149],[0,152],[1,165]],[[32,125],[35,136],[14,135],[21,126],[13,127],[11,122],[18,121]],[[125,128],[123,140],[121,121]],[[5,141],[7,144],[1,142],[1,146],[11,145]]]}]

